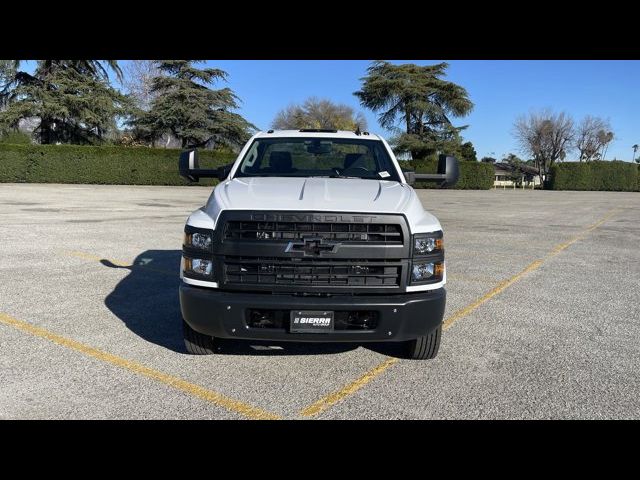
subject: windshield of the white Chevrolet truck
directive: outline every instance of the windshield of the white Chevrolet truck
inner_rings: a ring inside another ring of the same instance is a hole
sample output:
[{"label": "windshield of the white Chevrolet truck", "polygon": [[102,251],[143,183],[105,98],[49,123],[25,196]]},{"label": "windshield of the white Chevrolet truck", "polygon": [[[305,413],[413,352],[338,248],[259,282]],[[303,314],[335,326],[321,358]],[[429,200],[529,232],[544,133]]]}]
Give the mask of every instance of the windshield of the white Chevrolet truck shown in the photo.
[{"label": "windshield of the white Chevrolet truck", "polygon": [[256,139],[235,176],[400,181],[381,141],[342,138]]}]

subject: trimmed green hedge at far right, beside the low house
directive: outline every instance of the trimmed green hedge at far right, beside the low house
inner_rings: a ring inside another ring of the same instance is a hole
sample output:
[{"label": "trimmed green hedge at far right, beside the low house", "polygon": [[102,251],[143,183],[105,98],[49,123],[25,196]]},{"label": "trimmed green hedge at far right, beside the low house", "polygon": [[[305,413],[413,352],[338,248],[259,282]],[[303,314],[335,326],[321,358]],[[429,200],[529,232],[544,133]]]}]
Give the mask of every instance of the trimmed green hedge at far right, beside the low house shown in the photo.
[{"label": "trimmed green hedge at far right, beside the low house", "polygon": [[549,173],[552,190],[638,190],[638,166],[629,162],[565,162]]}]

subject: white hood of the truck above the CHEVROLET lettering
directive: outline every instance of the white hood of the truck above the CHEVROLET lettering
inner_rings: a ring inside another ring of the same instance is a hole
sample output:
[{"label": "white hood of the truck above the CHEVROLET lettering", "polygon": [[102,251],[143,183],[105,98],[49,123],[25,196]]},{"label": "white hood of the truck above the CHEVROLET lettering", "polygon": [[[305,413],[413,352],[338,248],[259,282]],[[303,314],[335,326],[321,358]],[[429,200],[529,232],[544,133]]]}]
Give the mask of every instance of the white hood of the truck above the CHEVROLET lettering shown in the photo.
[{"label": "white hood of the truck above the CHEVROLET lettering", "polygon": [[352,178],[241,177],[220,183],[204,208],[214,222],[223,210],[402,213],[413,232],[440,228],[407,184]]}]

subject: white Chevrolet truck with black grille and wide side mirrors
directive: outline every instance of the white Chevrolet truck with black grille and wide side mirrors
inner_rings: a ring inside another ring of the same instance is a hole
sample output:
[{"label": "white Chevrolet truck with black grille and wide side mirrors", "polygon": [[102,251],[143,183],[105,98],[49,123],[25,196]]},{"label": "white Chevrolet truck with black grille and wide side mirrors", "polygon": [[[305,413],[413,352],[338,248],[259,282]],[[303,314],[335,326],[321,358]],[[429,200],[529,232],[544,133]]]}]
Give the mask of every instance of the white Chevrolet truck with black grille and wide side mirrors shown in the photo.
[{"label": "white Chevrolet truck with black grille and wide side mirrors", "polygon": [[437,174],[402,171],[367,132],[259,132],[237,160],[180,174],[220,179],[185,226],[180,306],[188,352],[217,338],[295,342],[403,342],[434,358],[446,270],[442,227],[415,180],[452,185],[455,158]]}]

